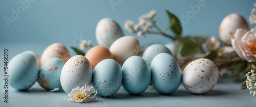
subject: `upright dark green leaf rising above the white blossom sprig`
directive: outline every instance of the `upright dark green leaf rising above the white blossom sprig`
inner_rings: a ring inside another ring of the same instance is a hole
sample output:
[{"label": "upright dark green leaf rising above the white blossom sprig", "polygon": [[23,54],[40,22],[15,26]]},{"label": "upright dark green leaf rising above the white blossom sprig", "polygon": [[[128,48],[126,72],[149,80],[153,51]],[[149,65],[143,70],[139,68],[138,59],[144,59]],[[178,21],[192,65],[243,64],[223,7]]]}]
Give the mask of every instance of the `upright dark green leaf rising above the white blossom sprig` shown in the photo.
[{"label": "upright dark green leaf rising above the white blossom sprig", "polygon": [[176,34],[176,36],[180,37],[182,33],[182,28],[179,19],[168,10],[166,10],[166,12],[169,16],[170,30],[172,30]]}]

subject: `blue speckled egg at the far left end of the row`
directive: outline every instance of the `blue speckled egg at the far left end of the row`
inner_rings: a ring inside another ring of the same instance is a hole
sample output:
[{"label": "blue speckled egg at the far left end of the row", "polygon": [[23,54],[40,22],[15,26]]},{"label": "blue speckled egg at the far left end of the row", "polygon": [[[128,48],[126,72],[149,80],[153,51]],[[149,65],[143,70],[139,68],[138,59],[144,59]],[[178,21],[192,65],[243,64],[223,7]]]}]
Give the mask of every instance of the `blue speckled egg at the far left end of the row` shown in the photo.
[{"label": "blue speckled egg at the far left end of the row", "polygon": [[20,53],[12,58],[8,65],[9,84],[16,90],[32,87],[38,76],[38,63],[30,53]]}]

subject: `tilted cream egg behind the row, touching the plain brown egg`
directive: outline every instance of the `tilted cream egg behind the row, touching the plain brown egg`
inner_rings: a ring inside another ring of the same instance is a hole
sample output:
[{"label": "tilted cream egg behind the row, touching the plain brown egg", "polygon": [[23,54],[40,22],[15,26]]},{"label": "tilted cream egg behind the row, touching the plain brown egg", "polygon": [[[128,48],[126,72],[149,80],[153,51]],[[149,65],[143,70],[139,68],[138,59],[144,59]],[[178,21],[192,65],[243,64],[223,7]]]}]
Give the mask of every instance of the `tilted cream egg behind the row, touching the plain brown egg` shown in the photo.
[{"label": "tilted cream egg behind the row, touching the plain brown egg", "polygon": [[124,36],[111,45],[110,51],[114,60],[122,66],[127,58],[140,55],[140,43],[135,37]]}]

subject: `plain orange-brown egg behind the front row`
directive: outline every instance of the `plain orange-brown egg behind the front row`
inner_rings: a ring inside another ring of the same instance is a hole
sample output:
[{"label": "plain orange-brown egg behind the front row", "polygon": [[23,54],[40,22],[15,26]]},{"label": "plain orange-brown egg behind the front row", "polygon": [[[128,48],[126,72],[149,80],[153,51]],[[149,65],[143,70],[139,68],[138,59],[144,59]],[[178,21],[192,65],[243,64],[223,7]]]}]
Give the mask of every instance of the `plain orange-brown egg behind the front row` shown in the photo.
[{"label": "plain orange-brown egg behind the front row", "polygon": [[104,59],[113,59],[113,55],[108,48],[103,46],[95,46],[88,50],[86,58],[89,60],[92,68]]}]

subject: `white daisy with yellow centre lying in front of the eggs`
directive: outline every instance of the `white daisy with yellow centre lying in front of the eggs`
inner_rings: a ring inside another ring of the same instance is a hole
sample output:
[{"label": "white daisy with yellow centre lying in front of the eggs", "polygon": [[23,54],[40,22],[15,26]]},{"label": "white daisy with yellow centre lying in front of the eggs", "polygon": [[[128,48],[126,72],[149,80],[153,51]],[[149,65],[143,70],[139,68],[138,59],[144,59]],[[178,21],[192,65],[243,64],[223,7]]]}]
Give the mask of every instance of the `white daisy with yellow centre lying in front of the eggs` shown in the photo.
[{"label": "white daisy with yellow centre lying in front of the eggs", "polygon": [[[97,91],[93,89],[93,87],[87,86],[86,84],[83,87],[76,87],[72,89],[71,93],[69,93],[69,99],[66,99],[71,102],[94,102]],[[94,95],[92,95],[95,93]]]}]

